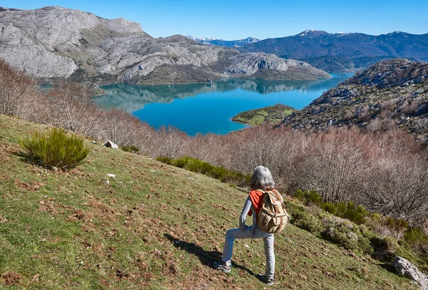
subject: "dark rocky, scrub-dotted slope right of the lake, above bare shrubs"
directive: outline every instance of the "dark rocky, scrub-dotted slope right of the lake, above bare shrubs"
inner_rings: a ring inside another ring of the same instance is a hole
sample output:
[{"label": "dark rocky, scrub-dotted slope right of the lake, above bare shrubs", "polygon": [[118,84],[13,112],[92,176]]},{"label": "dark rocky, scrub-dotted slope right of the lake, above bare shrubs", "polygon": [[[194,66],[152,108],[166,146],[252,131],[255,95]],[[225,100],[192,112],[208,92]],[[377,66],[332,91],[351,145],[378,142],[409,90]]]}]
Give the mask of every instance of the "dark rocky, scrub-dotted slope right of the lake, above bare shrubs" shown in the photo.
[{"label": "dark rocky, scrub-dotted slope right of the lake, above bare shrubs", "polygon": [[428,63],[382,61],[328,90],[282,125],[300,130],[399,127],[428,142]]}]

